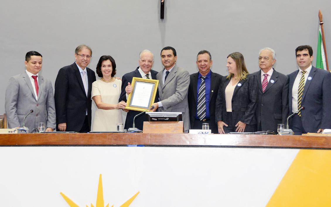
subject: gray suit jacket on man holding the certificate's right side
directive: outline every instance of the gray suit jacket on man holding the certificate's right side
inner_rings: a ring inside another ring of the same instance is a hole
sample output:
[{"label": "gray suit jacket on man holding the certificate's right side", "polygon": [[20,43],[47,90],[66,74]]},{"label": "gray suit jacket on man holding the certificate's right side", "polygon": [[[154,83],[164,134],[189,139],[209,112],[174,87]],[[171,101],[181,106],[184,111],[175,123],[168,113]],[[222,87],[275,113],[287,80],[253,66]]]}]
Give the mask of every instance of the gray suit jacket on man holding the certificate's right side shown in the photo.
[{"label": "gray suit jacket on man holding the certificate's right side", "polygon": [[182,112],[184,121],[184,131],[190,129],[189,108],[187,102],[187,92],[190,85],[190,74],[176,64],[170,71],[166,82],[163,84],[161,70],[156,78],[159,80],[159,95],[162,107],[159,107],[159,112]]}]

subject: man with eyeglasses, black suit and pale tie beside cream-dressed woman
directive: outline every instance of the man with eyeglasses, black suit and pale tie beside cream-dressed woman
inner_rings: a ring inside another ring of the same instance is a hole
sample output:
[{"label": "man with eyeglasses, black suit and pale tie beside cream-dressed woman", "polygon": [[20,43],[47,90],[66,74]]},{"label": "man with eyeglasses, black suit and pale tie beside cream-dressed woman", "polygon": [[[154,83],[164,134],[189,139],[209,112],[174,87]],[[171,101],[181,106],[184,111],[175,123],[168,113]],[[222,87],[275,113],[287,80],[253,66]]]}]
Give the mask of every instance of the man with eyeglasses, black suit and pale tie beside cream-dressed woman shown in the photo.
[{"label": "man with eyeglasses, black suit and pale tie beside cream-dressed woman", "polygon": [[96,80],[94,71],[87,67],[91,57],[91,48],[79,45],[75,50],[76,61],[59,70],[54,93],[57,131],[91,130],[91,89]]}]

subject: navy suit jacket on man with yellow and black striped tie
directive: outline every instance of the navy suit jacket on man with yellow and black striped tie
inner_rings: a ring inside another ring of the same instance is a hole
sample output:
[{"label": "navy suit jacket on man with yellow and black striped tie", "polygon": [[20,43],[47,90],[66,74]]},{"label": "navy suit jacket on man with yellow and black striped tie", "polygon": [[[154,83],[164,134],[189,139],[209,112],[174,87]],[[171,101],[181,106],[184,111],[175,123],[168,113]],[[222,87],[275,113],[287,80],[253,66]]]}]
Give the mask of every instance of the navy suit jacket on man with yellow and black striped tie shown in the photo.
[{"label": "navy suit jacket on man with yellow and black striped tie", "polygon": [[[292,114],[292,88],[299,70],[289,77],[289,108]],[[311,77],[311,79],[309,78]],[[310,80],[309,80],[310,79]],[[305,83],[301,105],[301,121],[305,131],[316,133],[318,129],[331,128],[331,73],[312,66]],[[290,122],[290,126],[291,126]]]}]

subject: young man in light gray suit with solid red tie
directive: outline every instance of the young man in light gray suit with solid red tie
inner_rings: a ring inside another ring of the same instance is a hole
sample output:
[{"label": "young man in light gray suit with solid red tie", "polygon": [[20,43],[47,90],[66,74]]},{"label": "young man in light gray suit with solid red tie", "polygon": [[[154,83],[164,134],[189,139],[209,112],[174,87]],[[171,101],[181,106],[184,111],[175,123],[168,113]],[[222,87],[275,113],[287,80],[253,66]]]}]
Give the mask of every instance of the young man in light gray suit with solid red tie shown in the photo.
[{"label": "young man in light gray suit with solid red tie", "polygon": [[24,73],[11,77],[6,89],[5,109],[9,128],[25,126],[32,129],[38,127],[39,122],[45,123],[46,131],[53,131],[55,123],[55,104],[53,87],[50,80],[39,75],[42,67],[42,55],[30,51],[25,55]]}]

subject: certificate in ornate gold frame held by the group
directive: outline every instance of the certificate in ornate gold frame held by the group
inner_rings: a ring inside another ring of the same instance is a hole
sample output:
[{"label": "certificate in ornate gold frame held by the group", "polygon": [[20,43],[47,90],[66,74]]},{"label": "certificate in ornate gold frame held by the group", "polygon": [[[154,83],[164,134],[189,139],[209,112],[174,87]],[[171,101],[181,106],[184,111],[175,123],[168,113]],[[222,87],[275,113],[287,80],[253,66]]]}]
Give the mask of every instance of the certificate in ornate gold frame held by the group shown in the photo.
[{"label": "certificate in ornate gold frame held by the group", "polygon": [[154,104],[159,80],[132,78],[132,92],[129,94],[126,107],[127,110],[146,111]]}]

